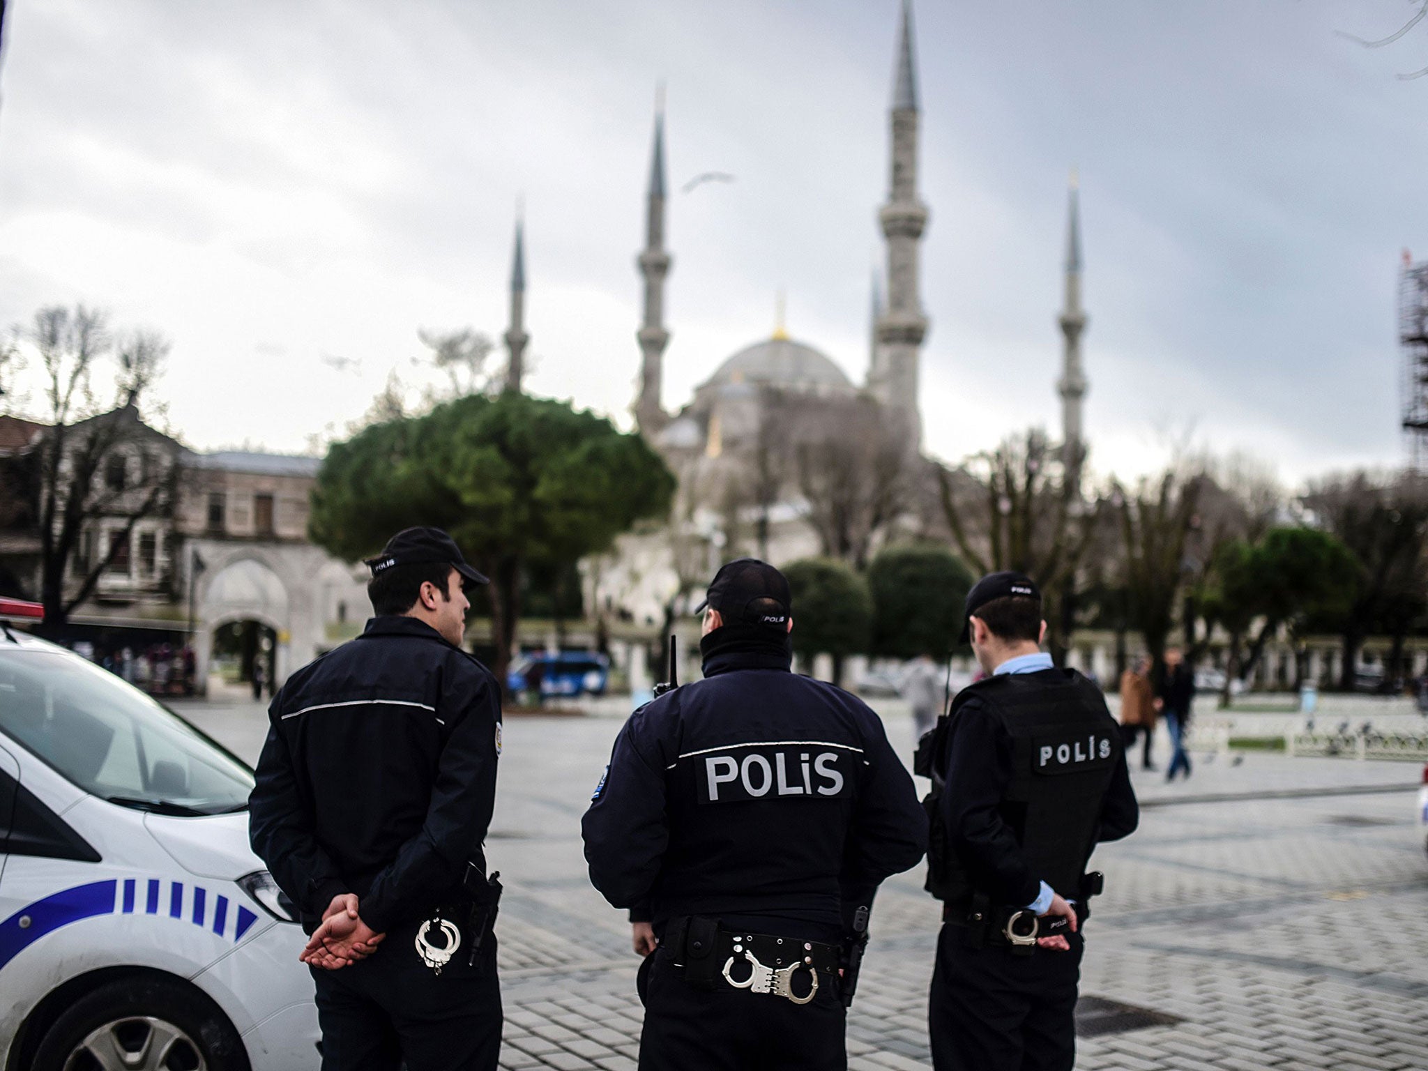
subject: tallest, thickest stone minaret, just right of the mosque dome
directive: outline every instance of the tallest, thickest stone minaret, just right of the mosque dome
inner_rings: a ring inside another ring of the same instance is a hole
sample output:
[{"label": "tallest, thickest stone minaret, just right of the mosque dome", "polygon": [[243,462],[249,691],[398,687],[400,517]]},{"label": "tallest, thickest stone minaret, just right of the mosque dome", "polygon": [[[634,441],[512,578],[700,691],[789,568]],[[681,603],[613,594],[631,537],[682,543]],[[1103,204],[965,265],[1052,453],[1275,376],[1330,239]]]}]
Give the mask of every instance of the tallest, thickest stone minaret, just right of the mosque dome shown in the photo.
[{"label": "tallest, thickest stone minaret, just right of the mosque dome", "polygon": [[917,411],[917,373],[927,317],[918,297],[918,241],[927,206],[917,197],[917,71],[912,63],[912,6],[902,0],[897,76],[892,84],[892,176],[878,213],[887,241],[887,308],[878,318],[878,360],[870,376],[874,396],[904,426],[908,448],[922,443]]}]

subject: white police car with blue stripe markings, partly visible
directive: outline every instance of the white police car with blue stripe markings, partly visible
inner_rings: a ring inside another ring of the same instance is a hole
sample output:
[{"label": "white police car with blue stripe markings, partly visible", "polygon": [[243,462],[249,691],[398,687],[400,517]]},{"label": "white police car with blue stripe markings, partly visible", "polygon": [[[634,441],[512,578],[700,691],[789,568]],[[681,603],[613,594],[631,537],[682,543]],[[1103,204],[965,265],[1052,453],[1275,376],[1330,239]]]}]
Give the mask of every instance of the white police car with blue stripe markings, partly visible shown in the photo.
[{"label": "white police car with blue stripe markings, partly visible", "polygon": [[248,848],[253,773],[17,627],[39,617],[0,600],[0,1068],[316,1065],[303,932]]}]

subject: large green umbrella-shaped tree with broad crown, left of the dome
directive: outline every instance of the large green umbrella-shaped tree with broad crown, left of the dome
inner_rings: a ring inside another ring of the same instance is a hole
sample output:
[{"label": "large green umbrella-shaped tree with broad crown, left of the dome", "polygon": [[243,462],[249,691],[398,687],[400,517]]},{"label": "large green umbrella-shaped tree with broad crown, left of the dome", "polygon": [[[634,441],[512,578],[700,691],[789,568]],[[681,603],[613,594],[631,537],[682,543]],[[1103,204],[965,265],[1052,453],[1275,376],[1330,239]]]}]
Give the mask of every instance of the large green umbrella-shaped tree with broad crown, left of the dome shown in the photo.
[{"label": "large green umbrella-shaped tree with broad crown, left of the dome", "polygon": [[567,403],[473,394],[334,443],[313,491],[313,541],[348,561],[394,531],[434,524],[491,578],[506,681],[521,581],[607,550],[670,508],[674,477],[634,434]]}]

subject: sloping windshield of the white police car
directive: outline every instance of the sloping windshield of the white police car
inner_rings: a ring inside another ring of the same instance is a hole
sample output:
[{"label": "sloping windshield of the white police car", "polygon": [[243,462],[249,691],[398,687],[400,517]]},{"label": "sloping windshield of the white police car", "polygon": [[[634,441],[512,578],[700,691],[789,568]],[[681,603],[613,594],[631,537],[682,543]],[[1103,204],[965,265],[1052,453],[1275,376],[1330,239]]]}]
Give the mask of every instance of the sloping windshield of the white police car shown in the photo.
[{"label": "sloping windshield of the white police car", "polygon": [[0,650],[0,730],[84,791],[137,810],[240,811],[253,788],[241,761],[67,651]]}]

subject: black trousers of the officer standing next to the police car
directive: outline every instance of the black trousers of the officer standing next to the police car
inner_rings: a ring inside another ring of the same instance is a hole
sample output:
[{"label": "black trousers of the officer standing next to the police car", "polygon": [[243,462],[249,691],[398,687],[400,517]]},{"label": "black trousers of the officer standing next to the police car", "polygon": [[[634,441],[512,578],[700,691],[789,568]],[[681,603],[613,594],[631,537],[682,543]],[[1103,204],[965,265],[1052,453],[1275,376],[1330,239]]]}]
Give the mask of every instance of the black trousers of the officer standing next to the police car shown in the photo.
[{"label": "black trousers of the officer standing next to the police car", "polygon": [[416,927],[394,927],[377,952],[337,971],[313,971],[323,1071],[496,1071],[501,988],[496,938],[476,965],[463,944],[441,974],[421,962]]}]

